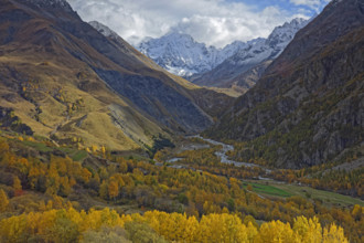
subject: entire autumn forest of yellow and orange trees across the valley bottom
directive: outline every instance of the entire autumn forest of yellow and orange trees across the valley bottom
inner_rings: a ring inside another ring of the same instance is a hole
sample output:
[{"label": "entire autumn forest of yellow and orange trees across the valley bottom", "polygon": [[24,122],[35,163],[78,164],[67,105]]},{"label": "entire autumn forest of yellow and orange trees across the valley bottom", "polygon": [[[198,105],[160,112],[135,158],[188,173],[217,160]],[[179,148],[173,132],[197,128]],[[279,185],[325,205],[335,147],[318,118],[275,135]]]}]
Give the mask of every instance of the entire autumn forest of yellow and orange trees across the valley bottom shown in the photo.
[{"label": "entire autumn forest of yellow and orange trees across the valley bottom", "polygon": [[0,135],[1,242],[364,240],[363,205],[260,197],[244,180],[259,170],[217,163],[208,149],[190,151],[196,161],[185,162],[196,168],[175,169],[104,147],[81,151]]}]

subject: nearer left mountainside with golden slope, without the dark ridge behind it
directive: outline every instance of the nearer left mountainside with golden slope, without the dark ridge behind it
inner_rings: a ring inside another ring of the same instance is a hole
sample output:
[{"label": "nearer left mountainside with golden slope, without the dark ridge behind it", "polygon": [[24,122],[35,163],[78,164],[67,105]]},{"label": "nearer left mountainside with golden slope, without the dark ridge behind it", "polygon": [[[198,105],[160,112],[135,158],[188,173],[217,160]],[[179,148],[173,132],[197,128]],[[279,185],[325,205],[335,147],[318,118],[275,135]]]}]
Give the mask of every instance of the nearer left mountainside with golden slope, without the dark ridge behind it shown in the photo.
[{"label": "nearer left mountainside with golden slope, without the dark ridge behind it", "polygon": [[107,61],[67,33],[84,23],[65,1],[2,1],[0,12],[0,106],[19,123],[58,144],[111,149],[152,145],[163,134],[92,68]]}]

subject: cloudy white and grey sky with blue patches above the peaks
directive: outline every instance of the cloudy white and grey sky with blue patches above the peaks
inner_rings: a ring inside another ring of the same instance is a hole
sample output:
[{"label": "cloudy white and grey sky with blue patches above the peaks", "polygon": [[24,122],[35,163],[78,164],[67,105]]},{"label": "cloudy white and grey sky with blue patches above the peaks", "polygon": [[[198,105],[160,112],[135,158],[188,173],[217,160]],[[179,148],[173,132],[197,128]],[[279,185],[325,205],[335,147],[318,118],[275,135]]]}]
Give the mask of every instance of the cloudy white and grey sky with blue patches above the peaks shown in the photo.
[{"label": "cloudy white and grey sky with blue patches above the peaks", "polygon": [[267,38],[296,17],[310,18],[330,0],[68,0],[84,21],[97,20],[137,44],[170,31],[223,47]]}]

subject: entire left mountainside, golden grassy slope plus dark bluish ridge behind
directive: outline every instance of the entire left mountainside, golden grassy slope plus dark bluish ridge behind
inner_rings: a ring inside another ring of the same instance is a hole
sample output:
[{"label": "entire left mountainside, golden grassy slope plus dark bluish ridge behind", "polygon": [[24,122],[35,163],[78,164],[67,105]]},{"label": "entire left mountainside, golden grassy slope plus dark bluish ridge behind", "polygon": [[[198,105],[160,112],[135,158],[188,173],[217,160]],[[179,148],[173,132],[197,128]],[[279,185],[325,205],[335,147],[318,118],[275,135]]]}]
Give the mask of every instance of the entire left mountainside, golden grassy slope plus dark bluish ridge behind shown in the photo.
[{"label": "entire left mountainside, golden grassy slope plus dark bluish ridge behind", "polygon": [[0,106],[61,144],[136,149],[165,127],[212,125],[206,112],[215,109],[197,106],[195,93],[232,101],[169,74],[121,38],[104,36],[65,0],[2,1],[0,33]]}]

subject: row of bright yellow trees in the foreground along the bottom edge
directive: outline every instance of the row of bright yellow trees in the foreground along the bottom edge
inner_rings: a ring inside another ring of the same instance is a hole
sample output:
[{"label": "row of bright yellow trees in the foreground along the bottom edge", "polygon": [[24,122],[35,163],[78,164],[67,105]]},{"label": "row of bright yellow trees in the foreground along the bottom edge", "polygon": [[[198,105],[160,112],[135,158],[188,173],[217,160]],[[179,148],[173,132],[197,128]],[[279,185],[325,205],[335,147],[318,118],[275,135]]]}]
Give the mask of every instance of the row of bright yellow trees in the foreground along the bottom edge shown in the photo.
[{"label": "row of bright yellow trees in the foreground along the bottom edge", "polygon": [[271,221],[256,226],[234,214],[208,214],[199,221],[180,213],[149,211],[119,215],[104,209],[73,208],[21,214],[0,221],[1,242],[323,242],[345,243],[343,229],[322,228],[317,218],[295,219],[292,226]]}]

